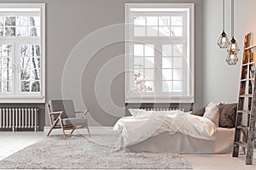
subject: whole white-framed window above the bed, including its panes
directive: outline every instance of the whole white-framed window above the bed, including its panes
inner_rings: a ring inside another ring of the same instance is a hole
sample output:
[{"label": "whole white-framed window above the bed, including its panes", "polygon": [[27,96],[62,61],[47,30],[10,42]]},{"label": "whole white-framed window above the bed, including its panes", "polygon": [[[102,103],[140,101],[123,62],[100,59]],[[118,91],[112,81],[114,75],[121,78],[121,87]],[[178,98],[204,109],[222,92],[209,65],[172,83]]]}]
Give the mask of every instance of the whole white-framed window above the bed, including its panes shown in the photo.
[{"label": "whole white-framed window above the bed, including its panes", "polygon": [[194,4],[125,4],[125,102],[194,102]]}]

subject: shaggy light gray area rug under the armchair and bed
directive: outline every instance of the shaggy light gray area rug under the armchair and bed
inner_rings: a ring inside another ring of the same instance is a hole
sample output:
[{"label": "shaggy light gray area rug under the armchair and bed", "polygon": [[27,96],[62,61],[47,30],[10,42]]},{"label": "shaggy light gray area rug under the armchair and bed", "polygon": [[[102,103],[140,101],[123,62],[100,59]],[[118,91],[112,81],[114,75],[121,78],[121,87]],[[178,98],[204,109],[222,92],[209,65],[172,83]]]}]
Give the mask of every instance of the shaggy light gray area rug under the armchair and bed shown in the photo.
[{"label": "shaggy light gray area rug under the armchair and bed", "polygon": [[115,151],[117,135],[49,136],[0,161],[2,169],[189,169],[176,153]]}]

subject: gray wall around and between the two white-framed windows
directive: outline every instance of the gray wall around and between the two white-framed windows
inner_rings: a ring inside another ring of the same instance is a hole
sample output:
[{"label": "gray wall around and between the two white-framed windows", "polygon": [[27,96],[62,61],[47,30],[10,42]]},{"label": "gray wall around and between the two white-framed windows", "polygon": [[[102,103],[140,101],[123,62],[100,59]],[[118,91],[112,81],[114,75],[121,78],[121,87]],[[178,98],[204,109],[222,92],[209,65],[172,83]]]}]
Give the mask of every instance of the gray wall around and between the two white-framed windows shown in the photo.
[{"label": "gray wall around and between the two white-framed windows", "polygon": [[[0,3],[6,2],[10,3],[0,0]],[[109,31],[96,30],[124,23],[125,3],[195,3],[194,106],[198,108],[203,105],[203,0],[16,2],[46,3],[47,102],[62,97],[74,99],[78,110],[84,107],[90,110],[90,126],[113,126],[119,116],[125,115],[125,59],[122,55],[125,45],[122,41],[114,42],[125,37],[125,29],[117,26]],[[109,40],[112,42],[108,43]],[[49,126],[48,119],[46,113],[46,126]]]}]

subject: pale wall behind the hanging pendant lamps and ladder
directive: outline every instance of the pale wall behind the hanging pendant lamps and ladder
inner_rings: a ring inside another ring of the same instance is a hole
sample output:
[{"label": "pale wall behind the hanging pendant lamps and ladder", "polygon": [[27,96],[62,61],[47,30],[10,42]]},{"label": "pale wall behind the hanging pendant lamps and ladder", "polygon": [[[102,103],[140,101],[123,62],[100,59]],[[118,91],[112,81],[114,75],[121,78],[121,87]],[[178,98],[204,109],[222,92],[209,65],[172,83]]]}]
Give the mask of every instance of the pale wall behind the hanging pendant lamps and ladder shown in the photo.
[{"label": "pale wall behind the hanging pendant lamps and ladder", "polygon": [[[229,37],[230,2],[225,0],[225,30]],[[256,1],[235,0],[235,38],[241,49],[236,65],[227,65],[227,52],[217,45],[218,37],[223,30],[222,0],[204,0],[203,5],[203,105],[211,101],[237,102],[244,36],[248,32],[253,32],[253,42],[256,42]]]}]

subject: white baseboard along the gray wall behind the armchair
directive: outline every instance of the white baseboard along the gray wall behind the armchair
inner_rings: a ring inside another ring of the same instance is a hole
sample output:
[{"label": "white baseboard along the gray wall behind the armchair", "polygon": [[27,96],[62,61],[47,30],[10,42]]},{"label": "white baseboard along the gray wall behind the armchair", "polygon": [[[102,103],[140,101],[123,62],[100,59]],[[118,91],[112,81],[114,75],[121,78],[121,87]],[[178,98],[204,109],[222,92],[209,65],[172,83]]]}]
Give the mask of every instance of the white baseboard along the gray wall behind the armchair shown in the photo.
[{"label": "white baseboard along the gray wall behind the armchair", "polygon": [[[50,127],[44,127],[44,133],[49,132]],[[89,127],[90,134],[118,134],[117,132],[113,131],[113,127]],[[71,132],[71,130],[65,131],[67,134]],[[86,128],[77,129],[74,133],[81,133],[81,134],[88,134]],[[61,128],[53,129],[51,134],[62,134]]]}]

